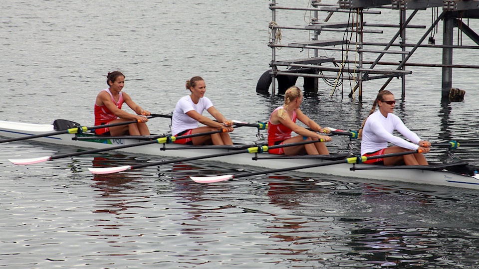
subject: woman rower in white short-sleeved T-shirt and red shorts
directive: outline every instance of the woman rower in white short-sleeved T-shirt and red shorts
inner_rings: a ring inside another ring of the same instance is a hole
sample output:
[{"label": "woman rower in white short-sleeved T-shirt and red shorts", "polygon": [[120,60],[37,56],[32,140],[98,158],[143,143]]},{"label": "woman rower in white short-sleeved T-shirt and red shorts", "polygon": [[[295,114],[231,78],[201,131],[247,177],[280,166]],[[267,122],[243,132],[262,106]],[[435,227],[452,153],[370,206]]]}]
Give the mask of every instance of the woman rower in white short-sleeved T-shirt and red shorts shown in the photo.
[{"label": "woman rower in white short-sleeved T-shirt and red shorts", "polygon": [[[182,97],[176,104],[172,118],[172,133],[175,136],[199,134],[225,129],[227,132],[233,132],[233,121],[227,120],[214,106],[213,103],[205,97],[206,84],[199,77],[193,77],[186,81],[186,89],[191,94]],[[213,116],[218,122],[215,122],[205,116],[203,111]],[[198,123],[206,126],[198,127]],[[175,143],[193,144],[193,145],[232,145],[233,141],[228,133],[216,133],[195,136],[175,140]]]}]

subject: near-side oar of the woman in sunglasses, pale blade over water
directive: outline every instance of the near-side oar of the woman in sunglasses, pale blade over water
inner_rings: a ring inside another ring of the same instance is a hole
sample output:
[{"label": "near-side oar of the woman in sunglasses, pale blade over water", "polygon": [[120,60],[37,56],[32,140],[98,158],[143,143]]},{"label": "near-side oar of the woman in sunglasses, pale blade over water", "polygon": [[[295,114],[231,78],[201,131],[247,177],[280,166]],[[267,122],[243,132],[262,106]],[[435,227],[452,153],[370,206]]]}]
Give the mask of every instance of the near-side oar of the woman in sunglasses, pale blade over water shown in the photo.
[{"label": "near-side oar of the woman in sunglasses, pale blade over water", "polygon": [[272,170],[258,171],[258,172],[251,172],[251,173],[242,173],[242,174],[236,174],[236,175],[190,176],[190,178],[193,179],[193,181],[195,181],[197,183],[214,183],[214,182],[220,182],[220,181],[225,181],[225,180],[229,180],[229,179],[233,179],[233,178],[239,178],[239,177],[278,173],[278,172],[291,171],[291,170],[300,170],[300,169],[320,167],[320,166],[333,165],[333,164],[339,164],[339,163],[360,163],[360,162],[364,162],[366,160],[371,160],[371,159],[379,159],[379,158],[387,158],[387,157],[408,155],[408,154],[413,154],[413,153],[418,153],[418,152],[422,152],[422,150],[418,149],[418,150],[415,150],[415,151],[389,153],[389,154],[369,156],[369,157],[367,157],[367,156],[349,157],[349,158],[346,158],[346,159],[343,159],[343,160],[337,160],[337,161],[328,161],[328,162],[322,162],[322,163],[287,167],[287,168],[281,168],[281,169],[272,169]]}]

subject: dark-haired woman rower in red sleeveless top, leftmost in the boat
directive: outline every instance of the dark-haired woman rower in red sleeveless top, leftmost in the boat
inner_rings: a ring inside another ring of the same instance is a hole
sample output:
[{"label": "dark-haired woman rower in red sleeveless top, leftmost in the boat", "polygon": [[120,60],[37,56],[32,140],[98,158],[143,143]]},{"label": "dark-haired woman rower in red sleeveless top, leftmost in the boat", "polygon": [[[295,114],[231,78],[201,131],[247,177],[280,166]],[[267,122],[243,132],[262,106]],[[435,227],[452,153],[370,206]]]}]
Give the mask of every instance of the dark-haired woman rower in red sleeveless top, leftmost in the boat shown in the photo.
[{"label": "dark-haired woman rower in red sleeveless top, leftmost in the boat", "polygon": [[[150,116],[150,112],[143,110],[131,100],[128,94],[121,91],[125,85],[125,76],[119,71],[108,73],[106,83],[110,87],[102,90],[96,96],[95,126],[132,120],[139,122],[110,128],[100,128],[96,129],[95,133],[103,135],[149,135],[150,131],[148,130],[148,126],[146,126],[148,118],[144,116]],[[121,110],[123,103],[126,103],[138,115]]]}]

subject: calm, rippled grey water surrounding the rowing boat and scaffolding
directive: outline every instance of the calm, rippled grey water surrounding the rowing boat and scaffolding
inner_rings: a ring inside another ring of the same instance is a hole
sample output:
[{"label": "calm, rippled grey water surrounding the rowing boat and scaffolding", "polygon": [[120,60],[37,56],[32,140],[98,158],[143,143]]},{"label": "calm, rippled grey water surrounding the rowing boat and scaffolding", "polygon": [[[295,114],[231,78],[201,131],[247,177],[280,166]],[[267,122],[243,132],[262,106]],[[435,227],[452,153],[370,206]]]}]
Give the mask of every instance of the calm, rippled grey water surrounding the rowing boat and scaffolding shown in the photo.
[{"label": "calm, rippled grey water surrounding the rowing boat and scaffolding", "polygon": [[[106,74],[121,70],[125,92],[153,113],[173,111],[188,94],[186,79],[201,75],[207,95],[228,118],[266,121],[282,103],[280,97],[255,94],[271,60],[268,4],[2,0],[0,120],[50,124],[61,118],[91,126],[94,98],[107,87]],[[366,20],[397,22],[396,12],[381,11]],[[302,11],[279,11],[277,18],[293,26],[304,20],[309,13]],[[429,27],[430,21],[429,10],[414,24]],[[470,22],[478,29],[475,25]],[[387,42],[392,32],[370,38]],[[421,34],[411,30],[409,41]],[[306,35],[283,30],[281,42],[307,40]],[[341,37],[321,33],[325,39]],[[435,38],[441,42],[441,28]],[[463,44],[472,44],[463,38]],[[411,61],[440,63],[440,53],[424,49]],[[321,54],[340,58],[339,52]],[[477,54],[455,51],[454,61],[475,64]],[[278,55],[308,56],[286,49]],[[432,141],[476,140],[476,72],[455,70],[453,87],[466,90],[466,100],[441,104],[441,70],[411,70],[406,99],[396,105],[405,123]],[[383,82],[365,84],[362,104],[347,98],[346,83],[331,98],[331,88],[320,83],[320,95],[305,98],[303,110],[323,126],[357,130]],[[400,98],[400,80],[388,89]],[[149,126],[154,133],[169,131],[165,119]],[[252,141],[255,134],[243,128],[233,138]],[[347,142],[334,137],[329,147],[346,151]],[[189,180],[250,170],[206,161],[104,176],[88,172],[92,165],[160,159],[115,153],[30,166],[7,161],[76,150],[26,141],[0,144],[2,268],[478,268],[479,194],[473,190],[300,172],[210,185]],[[445,159],[443,150],[433,151],[428,158]],[[457,150],[474,164],[478,152]]]}]

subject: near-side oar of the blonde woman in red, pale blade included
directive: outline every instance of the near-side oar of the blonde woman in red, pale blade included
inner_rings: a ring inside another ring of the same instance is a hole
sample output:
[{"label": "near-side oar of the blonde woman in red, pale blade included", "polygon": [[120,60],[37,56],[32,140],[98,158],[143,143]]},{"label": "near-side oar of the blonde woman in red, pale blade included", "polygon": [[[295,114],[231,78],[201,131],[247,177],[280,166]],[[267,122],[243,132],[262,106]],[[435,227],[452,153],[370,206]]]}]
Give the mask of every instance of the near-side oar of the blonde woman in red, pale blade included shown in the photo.
[{"label": "near-side oar of the blonde woman in red, pale blade included", "polygon": [[315,142],[322,142],[322,140],[309,140],[309,141],[301,141],[301,142],[297,142],[297,143],[288,143],[288,144],[279,144],[279,145],[273,145],[273,146],[265,146],[265,145],[264,146],[253,146],[253,147],[248,147],[246,149],[240,149],[240,150],[224,152],[224,153],[217,153],[217,154],[211,154],[211,155],[190,157],[190,158],[184,158],[184,159],[166,160],[166,161],[150,162],[150,163],[138,164],[138,165],[124,165],[124,166],[116,166],[116,167],[103,167],[103,168],[94,168],[93,167],[93,168],[88,168],[88,170],[90,170],[90,172],[92,172],[93,174],[111,174],[111,173],[117,173],[117,172],[130,170],[130,169],[136,169],[136,168],[142,168],[142,167],[148,167],[148,166],[158,166],[158,165],[162,165],[162,164],[175,163],[175,162],[185,162],[185,161],[191,161],[191,160],[208,159],[208,158],[222,157],[222,156],[235,155],[235,154],[241,154],[241,153],[261,153],[261,152],[267,151],[268,149],[287,147],[287,146],[295,146],[295,145],[303,145],[303,144],[309,144],[309,143],[315,143]]}]

